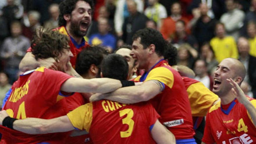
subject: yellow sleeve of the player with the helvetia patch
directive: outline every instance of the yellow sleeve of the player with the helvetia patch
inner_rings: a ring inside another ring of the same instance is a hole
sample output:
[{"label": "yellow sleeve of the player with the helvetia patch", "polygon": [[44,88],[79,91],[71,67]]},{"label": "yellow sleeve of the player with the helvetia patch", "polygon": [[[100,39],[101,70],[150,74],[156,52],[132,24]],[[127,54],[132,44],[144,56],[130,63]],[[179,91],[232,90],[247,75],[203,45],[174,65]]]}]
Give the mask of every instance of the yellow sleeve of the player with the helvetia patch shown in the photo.
[{"label": "yellow sleeve of the player with the helvetia patch", "polygon": [[149,80],[158,80],[169,88],[172,88],[174,83],[173,73],[166,67],[157,67],[151,70],[145,81]]}]

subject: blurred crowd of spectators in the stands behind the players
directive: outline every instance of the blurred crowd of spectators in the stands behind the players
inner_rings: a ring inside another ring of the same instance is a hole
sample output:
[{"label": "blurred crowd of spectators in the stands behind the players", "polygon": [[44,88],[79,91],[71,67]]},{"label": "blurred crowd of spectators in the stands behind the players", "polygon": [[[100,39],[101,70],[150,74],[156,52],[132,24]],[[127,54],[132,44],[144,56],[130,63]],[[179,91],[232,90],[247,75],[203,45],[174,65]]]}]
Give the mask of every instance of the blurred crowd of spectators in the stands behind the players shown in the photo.
[{"label": "blurred crowd of spectators in the stands behind the players", "polygon": [[[60,2],[0,1],[0,93],[17,79],[34,30],[58,27]],[[218,63],[239,59],[247,70],[241,87],[256,97],[256,0],[95,0],[86,41],[113,52],[145,27],[159,30],[177,48],[178,64],[209,89]]]}]

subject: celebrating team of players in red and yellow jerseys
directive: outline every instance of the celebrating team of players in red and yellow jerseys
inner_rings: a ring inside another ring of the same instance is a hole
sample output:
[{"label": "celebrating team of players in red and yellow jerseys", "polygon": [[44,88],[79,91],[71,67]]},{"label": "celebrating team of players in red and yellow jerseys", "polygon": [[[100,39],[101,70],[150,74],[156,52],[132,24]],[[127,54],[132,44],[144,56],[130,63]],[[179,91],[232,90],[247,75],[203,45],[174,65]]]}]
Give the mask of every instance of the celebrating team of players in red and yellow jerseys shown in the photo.
[{"label": "celebrating team of players in red and yellow jerseys", "polygon": [[[256,143],[256,100],[241,88],[246,70],[226,58],[213,92],[177,66],[177,49],[157,30],[137,31],[114,54],[85,41],[93,0],[64,0],[59,28],[40,28],[6,94],[0,143]],[[136,78],[138,70],[145,70]],[[181,76],[182,75],[182,76]]]}]

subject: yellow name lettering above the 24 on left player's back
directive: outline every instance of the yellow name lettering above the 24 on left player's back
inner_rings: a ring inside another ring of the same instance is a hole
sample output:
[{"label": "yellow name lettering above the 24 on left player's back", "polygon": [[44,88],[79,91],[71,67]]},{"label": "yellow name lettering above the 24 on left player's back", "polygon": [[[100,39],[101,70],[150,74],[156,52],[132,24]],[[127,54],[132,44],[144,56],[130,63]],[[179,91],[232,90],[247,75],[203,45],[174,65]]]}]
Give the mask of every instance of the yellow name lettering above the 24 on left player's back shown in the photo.
[{"label": "yellow name lettering above the 24 on left player's back", "polygon": [[24,97],[24,95],[28,94],[29,83],[30,83],[30,80],[28,80],[23,86],[19,88],[15,88],[15,90],[13,90],[9,98],[9,102],[17,102],[19,99]]}]

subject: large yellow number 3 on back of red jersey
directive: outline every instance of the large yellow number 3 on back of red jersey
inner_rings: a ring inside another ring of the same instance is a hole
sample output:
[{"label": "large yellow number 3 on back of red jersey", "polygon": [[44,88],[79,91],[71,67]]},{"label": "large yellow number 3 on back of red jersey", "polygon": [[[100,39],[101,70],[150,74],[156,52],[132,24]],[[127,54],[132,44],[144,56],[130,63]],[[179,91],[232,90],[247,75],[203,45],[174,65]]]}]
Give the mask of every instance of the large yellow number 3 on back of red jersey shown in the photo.
[{"label": "large yellow number 3 on back of red jersey", "polygon": [[132,133],[132,130],[134,127],[134,121],[131,119],[134,115],[133,110],[132,109],[123,109],[123,110],[119,111],[120,117],[122,117],[126,114],[127,114],[127,116],[122,119],[122,124],[127,124],[128,129],[127,129],[127,131],[120,131],[121,138],[127,138],[127,137],[131,136],[131,133]]}]

